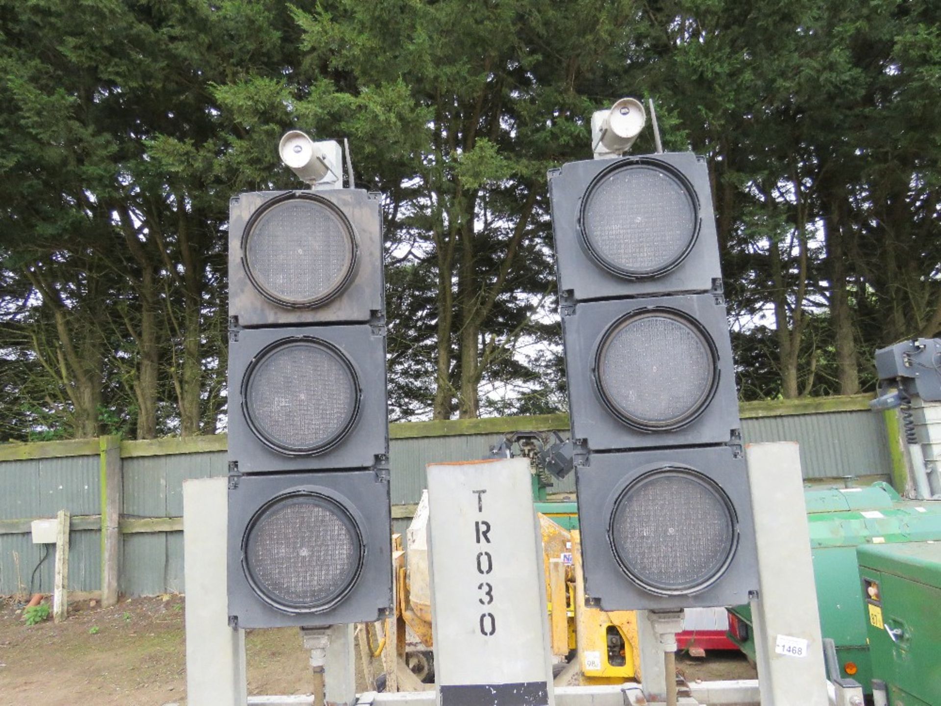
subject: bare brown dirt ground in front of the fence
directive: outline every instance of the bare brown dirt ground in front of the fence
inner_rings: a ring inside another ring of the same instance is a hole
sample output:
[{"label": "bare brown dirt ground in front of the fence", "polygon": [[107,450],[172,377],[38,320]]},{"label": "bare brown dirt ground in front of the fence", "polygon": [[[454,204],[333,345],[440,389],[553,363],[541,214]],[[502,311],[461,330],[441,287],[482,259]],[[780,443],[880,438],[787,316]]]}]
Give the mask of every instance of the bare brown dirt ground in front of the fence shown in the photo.
[{"label": "bare brown dirt ground in front of the fence", "polygon": [[[310,693],[309,655],[295,628],[249,631],[246,653],[250,695]],[[738,652],[680,655],[677,666],[689,681],[755,678]],[[182,706],[185,691],[180,596],[106,609],[72,603],[65,622],[31,627],[13,602],[0,602],[0,706]]]}]

